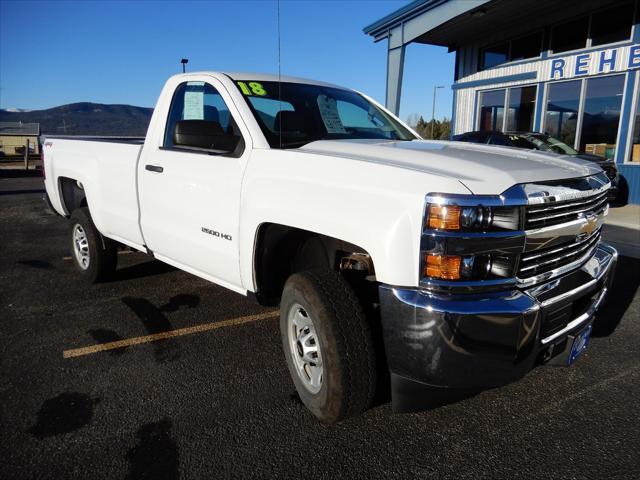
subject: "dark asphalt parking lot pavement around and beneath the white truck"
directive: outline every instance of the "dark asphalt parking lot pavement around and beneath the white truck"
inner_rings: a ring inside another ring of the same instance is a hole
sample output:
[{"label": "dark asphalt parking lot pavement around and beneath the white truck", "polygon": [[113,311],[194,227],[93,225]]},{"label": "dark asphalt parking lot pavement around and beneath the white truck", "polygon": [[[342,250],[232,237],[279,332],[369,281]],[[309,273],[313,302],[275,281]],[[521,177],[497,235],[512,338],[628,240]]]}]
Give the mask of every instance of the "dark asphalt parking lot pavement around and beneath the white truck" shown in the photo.
[{"label": "dark asphalt parking lot pavement around and beneath the white truck", "polygon": [[41,189],[0,172],[0,478],[640,478],[638,259],[571,368],[327,426],[273,309],[140,253],[84,284]]}]

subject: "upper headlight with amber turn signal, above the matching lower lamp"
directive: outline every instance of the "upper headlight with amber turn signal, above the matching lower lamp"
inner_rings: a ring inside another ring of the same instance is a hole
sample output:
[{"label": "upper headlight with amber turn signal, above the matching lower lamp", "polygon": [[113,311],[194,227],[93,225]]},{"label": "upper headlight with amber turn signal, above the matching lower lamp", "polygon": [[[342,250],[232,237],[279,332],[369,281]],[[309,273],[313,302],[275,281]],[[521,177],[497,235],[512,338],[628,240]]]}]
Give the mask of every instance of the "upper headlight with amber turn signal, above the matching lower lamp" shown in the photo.
[{"label": "upper headlight with amber turn signal, above the matching lower lamp", "polygon": [[485,207],[429,204],[425,227],[429,230],[518,230],[519,207]]}]

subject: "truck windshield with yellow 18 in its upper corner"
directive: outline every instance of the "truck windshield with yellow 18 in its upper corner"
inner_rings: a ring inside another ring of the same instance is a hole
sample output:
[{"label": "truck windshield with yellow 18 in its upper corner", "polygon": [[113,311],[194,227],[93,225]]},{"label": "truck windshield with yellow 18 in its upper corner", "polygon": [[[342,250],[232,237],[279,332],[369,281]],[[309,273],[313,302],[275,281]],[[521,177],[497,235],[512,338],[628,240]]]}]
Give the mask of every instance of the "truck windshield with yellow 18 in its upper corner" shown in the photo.
[{"label": "truck windshield with yellow 18 in its upper corner", "polygon": [[295,148],[315,140],[417,137],[382,109],[350,90],[302,83],[239,80],[272,148]]}]

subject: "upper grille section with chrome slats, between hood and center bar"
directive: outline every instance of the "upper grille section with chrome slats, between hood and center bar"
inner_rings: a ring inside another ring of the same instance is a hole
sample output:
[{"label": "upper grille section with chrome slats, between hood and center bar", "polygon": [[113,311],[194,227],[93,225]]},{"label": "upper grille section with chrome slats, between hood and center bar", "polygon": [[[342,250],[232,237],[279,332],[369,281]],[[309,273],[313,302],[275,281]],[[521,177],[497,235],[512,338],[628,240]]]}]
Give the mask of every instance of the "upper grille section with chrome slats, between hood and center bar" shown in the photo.
[{"label": "upper grille section with chrome slats, between hood and center bar", "polygon": [[607,205],[607,192],[599,192],[579,200],[566,200],[527,207],[526,230],[559,225],[583,216],[598,214]]}]

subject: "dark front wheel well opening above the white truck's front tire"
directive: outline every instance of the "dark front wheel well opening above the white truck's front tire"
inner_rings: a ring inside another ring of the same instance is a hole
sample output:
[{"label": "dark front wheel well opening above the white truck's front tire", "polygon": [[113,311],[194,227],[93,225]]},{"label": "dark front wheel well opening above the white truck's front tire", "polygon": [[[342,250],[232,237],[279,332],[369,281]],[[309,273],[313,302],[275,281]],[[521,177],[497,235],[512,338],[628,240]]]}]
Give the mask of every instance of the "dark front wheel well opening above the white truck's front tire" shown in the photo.
[{"label": "dark front wheel well opening above the white truck's front tire", "polygon": [[375,275],[370,255],[357,245],[300,228],[267,223],[260,226],[254,250],[256,296],[277,304],[287,278],[315,268],[348,272],[350,277]]}]

